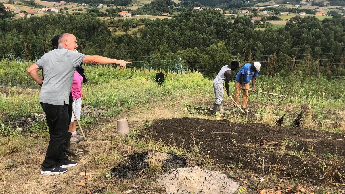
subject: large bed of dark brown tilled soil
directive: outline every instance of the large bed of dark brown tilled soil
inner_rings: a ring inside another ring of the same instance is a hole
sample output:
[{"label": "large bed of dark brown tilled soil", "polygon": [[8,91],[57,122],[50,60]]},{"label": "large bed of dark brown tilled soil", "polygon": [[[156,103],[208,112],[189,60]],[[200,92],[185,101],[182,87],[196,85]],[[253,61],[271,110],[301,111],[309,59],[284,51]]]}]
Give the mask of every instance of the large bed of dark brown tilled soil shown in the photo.
[{"label": "large bed of dark brown tilled soil", "polygon": [[187,117],[158,120],[146,133],[209,155],[216,164],[318,185],[327,180],[344,184],[344,134]]}]

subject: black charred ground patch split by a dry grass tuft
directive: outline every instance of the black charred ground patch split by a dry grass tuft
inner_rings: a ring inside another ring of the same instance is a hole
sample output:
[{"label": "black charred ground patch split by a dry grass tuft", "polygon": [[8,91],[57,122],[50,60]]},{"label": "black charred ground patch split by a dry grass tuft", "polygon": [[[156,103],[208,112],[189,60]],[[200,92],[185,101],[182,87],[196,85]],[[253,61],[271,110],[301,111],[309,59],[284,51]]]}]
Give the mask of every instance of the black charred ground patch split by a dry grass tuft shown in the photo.
[{"label": "black charred ground patch split by a dry grass tuft", "polygon": [[[141,172],[147,170],[148,153],[134,153],[126,157],[127,165],[116,167],[111,170],[111,175],[117,178],[135,178]],[[176,168],[187,166],[187,159],[181,156],[167,153],[167,159],[162,163],[162,171],[168,172]]]}]

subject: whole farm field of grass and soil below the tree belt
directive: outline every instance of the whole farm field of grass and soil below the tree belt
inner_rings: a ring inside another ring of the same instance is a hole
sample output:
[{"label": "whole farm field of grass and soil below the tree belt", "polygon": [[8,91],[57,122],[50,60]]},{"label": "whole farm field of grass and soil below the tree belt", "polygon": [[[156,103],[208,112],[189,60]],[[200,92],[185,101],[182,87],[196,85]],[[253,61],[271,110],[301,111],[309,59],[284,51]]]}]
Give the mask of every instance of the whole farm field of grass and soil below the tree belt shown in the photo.
[{"label": "whole farm field of grass and soil below the tree belt", "polygon": [[[240,184],[236,193],[292,186],[296,192],[340,193],[344,188],[336,186],[345,175],[344,79],[260,75],[258,90],[288,97],[280,102],[279,97],[249,93],[250,111],[242,115],[231,110],[225,95],[229,112],[213,116],[213,79],[198,72],[164,72],[159,86],[158,70],[84,64],[88,83],[82,86],[80,122],[87,141],[71,145],[79,155],[70,156],[78,165],[63,175],[41,176],[49,134],[39,89],[26,72],[30,65],[0,61],[3,193],[158,194],[164,193],[158,175],[194,165],[225,172]],[[229,85],[234,88],[233,82]],[[130,133],[118,135],[117,120],[124,118]],[[155,168],[166,152],[170,162]],[[85,178],[85,172],[91,175]]]}]

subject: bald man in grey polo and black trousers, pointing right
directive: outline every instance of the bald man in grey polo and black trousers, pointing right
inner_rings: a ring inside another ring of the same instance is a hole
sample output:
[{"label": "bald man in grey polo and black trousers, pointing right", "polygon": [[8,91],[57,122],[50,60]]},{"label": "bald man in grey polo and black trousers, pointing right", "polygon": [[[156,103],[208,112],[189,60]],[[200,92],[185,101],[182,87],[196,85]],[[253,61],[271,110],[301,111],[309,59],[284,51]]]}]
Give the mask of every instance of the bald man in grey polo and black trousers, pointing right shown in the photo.
[{"label": "bald man in grey polo and black trousers, pointing right", "polygon": [[[119,64],[126,68],[129,61],[102,56],[88,56],[75,52],[78,48],[74,35],[64,33],[59,38],[59,48],[47,52],[29,67],[30,76],[41,86],[40,104],[46,113],[50,141],[46,158],[42,163],[42,175],[56,175],[67,172],[67,167],[78,163],[68,159],[62,146],[68,133],[68,107],[73,75],[81,63]],[[42,69],[44,81],[37,71]]]}]

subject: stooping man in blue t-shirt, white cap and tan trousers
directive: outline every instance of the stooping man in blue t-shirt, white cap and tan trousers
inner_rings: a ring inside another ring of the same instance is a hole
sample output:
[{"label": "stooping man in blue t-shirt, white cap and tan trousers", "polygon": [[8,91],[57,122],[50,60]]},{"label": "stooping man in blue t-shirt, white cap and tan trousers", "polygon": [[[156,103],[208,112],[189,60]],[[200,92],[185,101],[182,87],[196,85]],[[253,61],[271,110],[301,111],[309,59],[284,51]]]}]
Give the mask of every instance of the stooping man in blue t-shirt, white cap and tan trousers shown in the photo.
[{"label": "stooping man in blue t-shirt, white cap and tan trousers", "polygon": [[[255,77],[259,75],[260,67],[261,67],[261,64],[258,61],[254,62],[254,64],[247,63],[237,72],[237,75],[236,75],[234,99],[236,103],[238,103],[239,93],[242,88],[243,89],[242,109],[246,113],[249,112],[247,110],[248,90],[246,89],[249,89],[249,82],[250,80],[252,80],[253,90],[256,91]],[[235,103],[234,103],[234,109],[237,109],[237,106]]]}]

